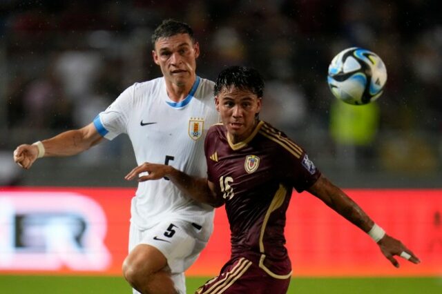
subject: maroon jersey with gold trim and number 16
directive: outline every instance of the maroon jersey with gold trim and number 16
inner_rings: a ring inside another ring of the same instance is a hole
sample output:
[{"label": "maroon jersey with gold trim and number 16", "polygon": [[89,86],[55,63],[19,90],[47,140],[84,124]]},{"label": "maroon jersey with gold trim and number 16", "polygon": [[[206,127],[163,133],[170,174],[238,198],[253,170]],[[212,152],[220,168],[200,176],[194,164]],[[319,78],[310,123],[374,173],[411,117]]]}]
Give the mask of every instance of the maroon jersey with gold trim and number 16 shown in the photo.
[{"label": "maroon jersey with gold trim and number 16", "polygon": [[269,275],[287,278],[285,213],[293,188],[309,188],[320,176],[307,154],[284,133],[260,121],[246,140],[232,144],[222,124],[204,145],[209,181],[224,199],[232,258],[245,256]]}]

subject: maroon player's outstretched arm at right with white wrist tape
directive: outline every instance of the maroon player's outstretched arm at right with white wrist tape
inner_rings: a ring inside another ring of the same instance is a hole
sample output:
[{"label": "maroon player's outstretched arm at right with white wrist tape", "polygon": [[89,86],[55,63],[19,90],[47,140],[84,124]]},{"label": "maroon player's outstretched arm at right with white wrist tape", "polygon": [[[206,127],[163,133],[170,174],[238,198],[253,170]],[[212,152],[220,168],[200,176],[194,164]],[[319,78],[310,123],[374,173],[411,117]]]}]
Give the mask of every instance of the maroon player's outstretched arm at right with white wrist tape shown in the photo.
[{"label": "maroon player's outstretched arm at right with white wrist tape", "polygon": [[321,176],[313,186],[307,189],[309,193],[321,199],[327,206],[345,217],[349,222],[358,226],[372,237],[381,249],[381,252],[390,262],[399,267],[394,255],[401,256],[414,264],[420,260],[401,241],[385,234],[382,228],[374,224],[373,220],[362,210],[356,202],[348,197],[343,190],[334,186],[324,176]]}]

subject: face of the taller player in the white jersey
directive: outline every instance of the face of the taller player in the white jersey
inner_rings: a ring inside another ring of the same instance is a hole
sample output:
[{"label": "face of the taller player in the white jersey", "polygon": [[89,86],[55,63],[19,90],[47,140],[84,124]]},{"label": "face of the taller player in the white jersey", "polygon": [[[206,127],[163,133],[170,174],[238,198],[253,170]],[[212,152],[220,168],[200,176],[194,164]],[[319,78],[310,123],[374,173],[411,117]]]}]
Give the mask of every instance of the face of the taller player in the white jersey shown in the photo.
[{"label": "face of the taller player in the white jersey", "polygon": [[187,34],[160,38],[152,51],[153,61],[172,84],[184,86],[195,77],[196,59],[200,55],[198,42]]}]

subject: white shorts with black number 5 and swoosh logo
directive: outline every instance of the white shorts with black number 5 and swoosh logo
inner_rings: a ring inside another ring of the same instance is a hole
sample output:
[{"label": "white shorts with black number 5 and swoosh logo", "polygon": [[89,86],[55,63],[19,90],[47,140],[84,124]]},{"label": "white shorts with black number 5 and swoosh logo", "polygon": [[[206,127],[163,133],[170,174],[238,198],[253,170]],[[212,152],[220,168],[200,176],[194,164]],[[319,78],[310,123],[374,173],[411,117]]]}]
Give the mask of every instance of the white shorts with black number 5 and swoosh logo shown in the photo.
[{"label": "white shorts with black number 5 and swoosh logo", "polygon": [[[211,222],[196,224],[182,219],[167,219],[147,230],[131,223],[129,252],[138,244],[157,248],[167,259],[175,288],[186,293],[184,271],[198,258],[212,231]],[[134,293],[137,292],[134,290]]]}]

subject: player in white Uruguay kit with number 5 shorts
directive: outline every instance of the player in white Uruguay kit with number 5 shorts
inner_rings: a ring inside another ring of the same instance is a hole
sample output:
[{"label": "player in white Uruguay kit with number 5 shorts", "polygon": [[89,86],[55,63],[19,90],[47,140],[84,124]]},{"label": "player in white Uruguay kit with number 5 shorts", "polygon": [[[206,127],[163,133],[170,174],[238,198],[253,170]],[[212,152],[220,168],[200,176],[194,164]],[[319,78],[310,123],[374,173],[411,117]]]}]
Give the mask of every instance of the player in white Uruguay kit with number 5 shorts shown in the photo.
[{"label": "player in white Uruguay kit with number 5 shorts", "polygon": [[[213,82],[196,75],[200,47],[193,30],[171,19],[152,36],[153,61],[162,77],[135,83],[91,124],[14,151],[28,169],[37,158],[69,156],[126,133],[137,164],[169,164],[204,177],[204,137],[219,121]],[[169,181],[140,182],[131,204],[129,254],[123,274],[134,293],[186,293],[184,271],[206,246],[213,208],[194,202]]]}]

